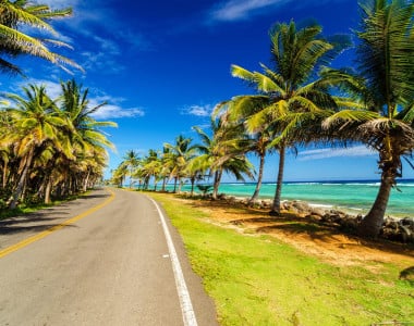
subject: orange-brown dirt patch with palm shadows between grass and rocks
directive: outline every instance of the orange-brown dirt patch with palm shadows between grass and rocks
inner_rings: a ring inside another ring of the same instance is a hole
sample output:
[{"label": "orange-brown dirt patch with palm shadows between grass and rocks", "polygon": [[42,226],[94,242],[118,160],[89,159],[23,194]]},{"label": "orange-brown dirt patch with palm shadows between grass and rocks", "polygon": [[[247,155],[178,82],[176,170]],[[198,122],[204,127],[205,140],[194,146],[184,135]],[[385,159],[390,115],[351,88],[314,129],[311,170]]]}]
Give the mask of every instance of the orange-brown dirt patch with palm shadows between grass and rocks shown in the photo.
[{"label": "orange-brown dirt patch with palm shadows between grass and rocks", "polygon": [[248,209],[239,203],[174,199],[208,213],[210,223],[235,228],[247,235],[269,235],[336,265],[370,266],[373,272],[378,268],[375,264],[378,262],[393,263],[401,267],[414,266],[413,244],[361,239],[345,234],[339,226],[288,212],[272,217],[265,210]]}]

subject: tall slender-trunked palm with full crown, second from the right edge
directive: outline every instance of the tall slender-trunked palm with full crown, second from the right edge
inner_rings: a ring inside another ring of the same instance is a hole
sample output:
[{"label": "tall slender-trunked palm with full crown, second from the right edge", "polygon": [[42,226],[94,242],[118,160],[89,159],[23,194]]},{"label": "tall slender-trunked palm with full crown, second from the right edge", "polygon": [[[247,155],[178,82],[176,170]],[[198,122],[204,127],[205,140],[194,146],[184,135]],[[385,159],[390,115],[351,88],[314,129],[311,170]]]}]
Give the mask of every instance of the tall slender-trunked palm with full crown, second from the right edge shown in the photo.
[{"label": "tall slender-trunked palm with full crown, second from the right edge", "polygon": [[[327,109],[337,108],[327,86],[314,80],[314,75],[318,66],[330,62],[348,42],[346,39],[329,42],[320,37],[320,33],[321,27],[317,24],[297,30],[293,21],[278,23],[270,30],[273,70],[260,64],[264,73],[259,73],[232,65],[232,75],[255,86],[259,95],[233,98],[229,116],[245,120],[252,134],[261,131],[267,125],[276,136],[269,145],[278,150],[280,158],[272,215],[280,214],[285,151],[297,142],[293,131],[301,129],[305,122],[315,124],[332,113]],[[320,137],[312,133],[306,135],[308,141]]]}]

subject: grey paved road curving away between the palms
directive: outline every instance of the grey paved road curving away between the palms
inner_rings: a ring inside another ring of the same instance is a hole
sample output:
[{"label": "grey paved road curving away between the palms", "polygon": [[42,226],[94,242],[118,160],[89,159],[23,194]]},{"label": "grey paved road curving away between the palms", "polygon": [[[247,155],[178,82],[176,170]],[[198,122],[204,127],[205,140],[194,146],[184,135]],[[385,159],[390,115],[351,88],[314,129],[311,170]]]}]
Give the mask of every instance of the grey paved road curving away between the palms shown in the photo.
[{"label": "grey paved road curving away between the palms", "polygon": [[[161,221],[147,197],[119,189],[1,221],[0,325],[190,325]],[[217,325],[180,237],[167,226],[196,322]]]}]

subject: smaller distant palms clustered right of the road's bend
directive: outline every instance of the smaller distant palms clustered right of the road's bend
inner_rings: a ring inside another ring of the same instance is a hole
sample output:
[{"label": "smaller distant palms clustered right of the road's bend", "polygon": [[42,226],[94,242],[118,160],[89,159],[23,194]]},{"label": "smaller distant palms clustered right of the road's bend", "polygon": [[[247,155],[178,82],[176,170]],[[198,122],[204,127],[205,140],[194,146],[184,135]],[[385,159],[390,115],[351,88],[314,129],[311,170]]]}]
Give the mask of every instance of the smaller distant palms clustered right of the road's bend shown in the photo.
[{"label": "smaller distant palms clustered right of the road's bend", "polygon": [[218,189],[223,173],[232,174],[238,180],[244,176],[253,178],[253,165],[246,159],[246,139],[241,139],[240,127],[223,127],[221,120],[211,120],[212,135],[199,127],[194,130],[200,138],[200,143],[192,143],[192,138],[182,135],[174,143],[165,143],[162,151],[149,150],[139,158],[138,153],[127,151],[119,166],[112,171],[111,181],[122,186],[130,179],[130,187],[138,181],[138,187],[148,189],[149,183],[154,189],[162,181],[161,190],[166,190],[169,180],[173,180],[174,192],[181,192],[184,183],[192,185],[194,192],[196,181],[212,177],[212,198],[217,199]]}]

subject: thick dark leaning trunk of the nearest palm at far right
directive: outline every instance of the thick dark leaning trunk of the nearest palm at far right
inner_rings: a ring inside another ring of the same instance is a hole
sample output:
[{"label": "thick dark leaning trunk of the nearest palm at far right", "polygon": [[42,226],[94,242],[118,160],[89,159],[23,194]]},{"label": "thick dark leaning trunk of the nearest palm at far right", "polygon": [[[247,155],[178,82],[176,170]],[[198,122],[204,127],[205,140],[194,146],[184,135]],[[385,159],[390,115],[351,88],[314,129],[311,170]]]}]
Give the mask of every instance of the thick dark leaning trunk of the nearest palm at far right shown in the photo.
[{"label": "thick dark leaning trunk of the nearest palm at far right", "polygon": [[377,198],[369,211],[358,226],[358,234],[363,237],[377,238],[383,223],[394,176],[390,172],[382,172],[381,185]]}]

